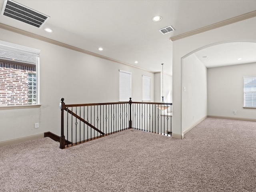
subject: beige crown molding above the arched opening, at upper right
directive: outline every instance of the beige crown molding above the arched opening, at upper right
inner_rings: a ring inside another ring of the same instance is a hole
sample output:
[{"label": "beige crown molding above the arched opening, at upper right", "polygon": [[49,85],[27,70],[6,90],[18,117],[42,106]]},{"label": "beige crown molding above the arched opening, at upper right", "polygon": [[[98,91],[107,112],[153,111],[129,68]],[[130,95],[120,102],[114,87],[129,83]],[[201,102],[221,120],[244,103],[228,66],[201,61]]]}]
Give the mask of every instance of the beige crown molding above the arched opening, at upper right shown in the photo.
[{"label": "beige crown molding above the arched opening, at upper right", "polygon": [[180,34],[180,35],[170,37],[169,40],[176,41],[176,40],[179,40],[179,39],[182,39],[182,38],[186,38],[186,37],[189,37],[189,36],[192,36],[192,35],[196,35],[196,34],[199,34],[199,33],[202,33],[202,32],[206,32],[206,31],[209,31],[209,30],[212,30],[212,29],[223,27],[223,26],[226,26],[226,25],[229,25],[229,24],[232,24],[232,23],[236,23],[236,22],[239,22],[239,21],[242,21],[242,20],[250,19],[250,18],[253,18],[253,17],[256,17],[256,10],[252,11],[252,12],[248,12],[246,14],[242,14],[242,15],[230,18],[230,19],[227,19],[227,20],[223,20],[223,21],[220,21],[220,22],[217,22],[217,23],[214,23],[214,24],[211,24],[211,25],[208,25],[208,26],[196,29],[196,30],[192,30],[190,32],[186,32],[186,33],[183,33],[183,34]]}]

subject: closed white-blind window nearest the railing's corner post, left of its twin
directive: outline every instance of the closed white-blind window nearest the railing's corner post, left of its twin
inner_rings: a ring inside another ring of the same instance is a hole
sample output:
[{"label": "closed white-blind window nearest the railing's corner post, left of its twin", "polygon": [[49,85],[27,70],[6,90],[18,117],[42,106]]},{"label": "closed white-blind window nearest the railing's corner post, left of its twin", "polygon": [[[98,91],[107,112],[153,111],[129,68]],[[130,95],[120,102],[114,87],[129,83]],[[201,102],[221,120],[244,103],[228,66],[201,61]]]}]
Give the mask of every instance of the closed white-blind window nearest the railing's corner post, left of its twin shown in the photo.
[{"label": "closed white-blind window nearest the railing's corner post, left of its twin", "polygon": [[132,73],[119,70],[119,101],[129,101],[132,97]]}]

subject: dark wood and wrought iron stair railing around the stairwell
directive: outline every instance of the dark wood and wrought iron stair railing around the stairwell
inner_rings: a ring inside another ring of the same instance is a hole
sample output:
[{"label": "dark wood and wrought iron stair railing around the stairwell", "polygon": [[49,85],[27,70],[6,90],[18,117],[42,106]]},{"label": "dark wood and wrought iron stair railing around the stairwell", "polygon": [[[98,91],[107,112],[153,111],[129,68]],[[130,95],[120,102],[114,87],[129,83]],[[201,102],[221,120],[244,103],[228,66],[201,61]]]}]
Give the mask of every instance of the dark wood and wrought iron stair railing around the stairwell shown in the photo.
[{"label": "dark wood and wrought iron stair railing around the stairwell", "polygon": [[128,128],[172,136],[172,103],[130,98],[129,102],[65,104],[62,98],[60,109],[62,149]]}]

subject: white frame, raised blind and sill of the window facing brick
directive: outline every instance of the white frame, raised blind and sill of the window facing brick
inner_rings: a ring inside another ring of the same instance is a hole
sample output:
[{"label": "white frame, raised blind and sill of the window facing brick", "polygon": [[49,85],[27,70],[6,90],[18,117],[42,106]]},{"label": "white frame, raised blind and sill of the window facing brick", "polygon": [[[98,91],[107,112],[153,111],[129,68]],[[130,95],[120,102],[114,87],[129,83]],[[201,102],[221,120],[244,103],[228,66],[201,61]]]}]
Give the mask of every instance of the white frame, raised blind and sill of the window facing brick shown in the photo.
[{"label": "white frame, raised blind and sill of the window facing brick", "polygon": [[[2,56],[0,56],[0,60],[3,60],[5,62],[15,62],[17,64],[31,64],[34,65],[36,67],[36,103],[35,104],[29,104],[29,102],[27,104],[18,104],[18,105],[7,105],[7,106],[0,106],[0,110],[6,110],[6,109],[20,109],[20,108],[38,108],[40,107],[40,98],[39,98],[39,54],[40,54],[40,50],[38,49],[34,49],[34,48],[30,48],[30,47],[26,47],[26,46],[21,46],[18,44],[13,44],[10,42],[5,42],[0,40],[0,50],[6,53],[10,53],[9,56],[6,56],[4,54],[2,54]],[[24,55],[25,58],[32,58],[32,60],[30,61],[30,59],[28,60],[20,60],[20,58],[17,55]],[[12,56],[14,56],[12,58]],[[16,59],[16,60],[15,60]],[[30,73],[30,72],[28,72]]]}]

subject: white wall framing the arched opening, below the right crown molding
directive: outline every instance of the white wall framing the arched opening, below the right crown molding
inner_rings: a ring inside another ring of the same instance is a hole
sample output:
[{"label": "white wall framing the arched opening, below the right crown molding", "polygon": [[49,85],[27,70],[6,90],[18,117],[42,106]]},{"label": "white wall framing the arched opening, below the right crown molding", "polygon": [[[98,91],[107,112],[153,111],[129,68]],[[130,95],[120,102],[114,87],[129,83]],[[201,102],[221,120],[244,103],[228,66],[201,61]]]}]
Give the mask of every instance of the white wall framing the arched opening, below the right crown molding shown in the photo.
[{"label": "white wall framing the arched opening, below the right crown molding", "polygon": [[[172,80],[173,80],[173,136],[182,137],[182,70],[181,61],[184,56],[195,50],[222,42],[240,40],[256,41],[256,18],[236,22],[228,26],[202,32],[173,42]],[[216,77],[217,78],[217,77]]]}]

